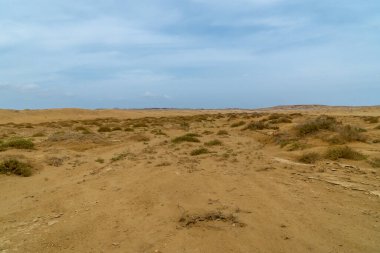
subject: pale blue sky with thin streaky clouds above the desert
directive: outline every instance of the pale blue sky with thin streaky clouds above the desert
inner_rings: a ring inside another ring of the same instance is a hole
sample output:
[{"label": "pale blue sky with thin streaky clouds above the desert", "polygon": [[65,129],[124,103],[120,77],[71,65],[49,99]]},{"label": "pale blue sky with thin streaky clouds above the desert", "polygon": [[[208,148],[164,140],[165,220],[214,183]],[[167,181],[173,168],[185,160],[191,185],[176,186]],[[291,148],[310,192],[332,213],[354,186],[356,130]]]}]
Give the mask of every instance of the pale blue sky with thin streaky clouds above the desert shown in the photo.
[{"label": "pale blue sky with thin streaky clouds above the desert", "polygon": [[0,0],[0,108],[380,105],[379,0]]}]

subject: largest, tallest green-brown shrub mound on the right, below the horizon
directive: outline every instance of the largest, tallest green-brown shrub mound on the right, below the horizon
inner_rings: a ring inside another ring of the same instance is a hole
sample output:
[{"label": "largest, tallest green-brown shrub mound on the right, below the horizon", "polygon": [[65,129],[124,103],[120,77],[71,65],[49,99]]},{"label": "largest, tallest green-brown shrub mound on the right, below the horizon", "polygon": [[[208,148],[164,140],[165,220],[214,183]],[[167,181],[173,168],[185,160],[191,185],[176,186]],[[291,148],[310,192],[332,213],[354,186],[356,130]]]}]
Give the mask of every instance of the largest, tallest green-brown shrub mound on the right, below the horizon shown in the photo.
[{"label": "largest, tallest green-brown shrub mound on the right, below the horizon", "polygon": [[322,115],[298,125],[296,130],[298,135],[305,136],[320,130],[335,131],[339,124],[334,117]]}]

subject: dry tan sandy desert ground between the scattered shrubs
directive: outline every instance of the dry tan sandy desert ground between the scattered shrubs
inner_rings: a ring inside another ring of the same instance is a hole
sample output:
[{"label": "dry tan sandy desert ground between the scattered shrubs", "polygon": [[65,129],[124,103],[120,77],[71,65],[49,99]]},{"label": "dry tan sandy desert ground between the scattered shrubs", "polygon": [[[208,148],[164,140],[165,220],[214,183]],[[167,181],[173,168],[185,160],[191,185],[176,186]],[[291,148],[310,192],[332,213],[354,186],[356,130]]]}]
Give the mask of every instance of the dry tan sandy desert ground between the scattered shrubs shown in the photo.
[{"label": "dry tan sandy desert ground between the scattered shrubs", "polygon": [[[34,167],[31,177],[0,174],[0,252],[380,252],[380,169],[370,163],[380,123],[361,117],[380,108],[258,112],[1,110],[0,139],[36,147],[0,152]],[[273,112],[292,123],[231,127]],[[298,162],[331,146],[319,135],[300,150],[276,144],[319,114],[366,129],[347,145],[367,159]],[[172,141],[187,133],[200,142]],[[205,146],[212,140],[221,145]]]}]

